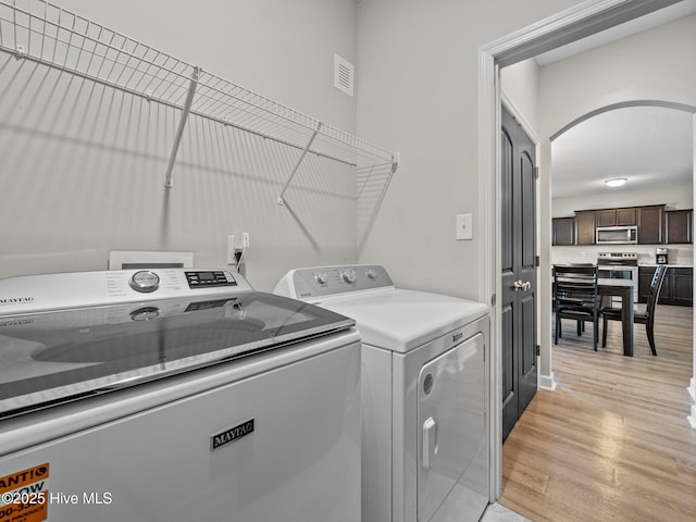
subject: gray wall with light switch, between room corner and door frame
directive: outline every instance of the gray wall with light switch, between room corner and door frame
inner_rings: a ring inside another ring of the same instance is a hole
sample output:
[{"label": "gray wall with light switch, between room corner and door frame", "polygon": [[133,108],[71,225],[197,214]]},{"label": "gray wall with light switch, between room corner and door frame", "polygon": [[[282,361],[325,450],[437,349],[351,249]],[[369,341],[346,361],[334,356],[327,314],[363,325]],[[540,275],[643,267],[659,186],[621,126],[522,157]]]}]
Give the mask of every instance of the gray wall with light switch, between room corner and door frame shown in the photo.
[{"label": "gray wall with light switch, between room corner and door frame", "polygon": [[[402,286],[478,298],[478,49],[579,1],[363,0],[358,133],[401,152],[364,262]],[[455,238],[473,213],[474,239]]]}]

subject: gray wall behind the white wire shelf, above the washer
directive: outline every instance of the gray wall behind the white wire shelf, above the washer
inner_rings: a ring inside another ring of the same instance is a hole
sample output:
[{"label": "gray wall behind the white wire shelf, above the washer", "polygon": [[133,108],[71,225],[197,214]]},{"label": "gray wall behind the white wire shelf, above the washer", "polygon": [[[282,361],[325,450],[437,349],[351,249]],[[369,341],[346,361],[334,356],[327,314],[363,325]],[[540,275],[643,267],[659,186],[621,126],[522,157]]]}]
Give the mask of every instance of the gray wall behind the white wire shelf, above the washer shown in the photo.
[{"label": "gray wall behind the white wire shelf, above the washer", "polygon": [[[353,0],[62,0],[66,10],[294,109],[356,130],[333,87],[334,53],[356,60]],[[290,268],[356,260],[356,176],[191,117],[163,187],[178,112],[0,54],[0,277],[104,270],[110,250],[192,251],[226,263],[251,234],[247,275],[272,289]]]}]

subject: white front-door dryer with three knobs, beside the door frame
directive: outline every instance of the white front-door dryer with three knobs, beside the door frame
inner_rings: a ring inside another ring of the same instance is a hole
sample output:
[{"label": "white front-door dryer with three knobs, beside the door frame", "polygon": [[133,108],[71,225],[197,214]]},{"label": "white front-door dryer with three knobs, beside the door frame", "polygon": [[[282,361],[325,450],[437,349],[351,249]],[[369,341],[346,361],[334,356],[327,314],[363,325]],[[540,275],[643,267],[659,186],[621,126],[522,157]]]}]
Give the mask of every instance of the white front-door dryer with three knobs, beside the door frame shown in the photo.
[{"label": "white front-door dryer with three knobs, beside the door frame", "polygon": [[485,304],[396,288],[378,265],[293,270],[275,293],[357,321],[362,522],[477,521],[493,500]]}]

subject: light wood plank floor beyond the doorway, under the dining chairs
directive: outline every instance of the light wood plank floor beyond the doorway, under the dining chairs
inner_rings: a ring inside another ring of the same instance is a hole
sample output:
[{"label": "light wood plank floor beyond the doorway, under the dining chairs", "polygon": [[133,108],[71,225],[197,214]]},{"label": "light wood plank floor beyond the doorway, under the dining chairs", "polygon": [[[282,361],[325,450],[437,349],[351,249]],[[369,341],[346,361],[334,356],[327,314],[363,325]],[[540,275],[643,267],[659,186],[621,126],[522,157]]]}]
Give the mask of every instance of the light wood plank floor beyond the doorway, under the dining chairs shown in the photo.
[{"label": "light wood plank floor beyond the doorway, under the dining chairs", "polygon": [[696,521],[693,309],[657,311],[657,358],[643,325],[629,358],[620,323],[595,352],[592,325],[579,339],[563,321],[558,387],[536,394],[502,447],[502,506],[534,522]]}]

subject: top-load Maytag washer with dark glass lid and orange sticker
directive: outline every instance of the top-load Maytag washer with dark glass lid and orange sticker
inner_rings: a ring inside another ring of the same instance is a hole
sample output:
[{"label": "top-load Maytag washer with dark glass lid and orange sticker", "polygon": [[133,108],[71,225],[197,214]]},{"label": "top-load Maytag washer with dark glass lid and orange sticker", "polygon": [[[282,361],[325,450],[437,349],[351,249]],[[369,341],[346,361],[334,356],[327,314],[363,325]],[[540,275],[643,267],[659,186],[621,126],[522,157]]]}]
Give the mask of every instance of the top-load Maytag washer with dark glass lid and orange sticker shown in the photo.
[{"label": "top-load Maytag washer with dark glass lid and orange sticker", "polygon": [[355,321],[236,273],[0,281],[0,520],[360,520]]}]

